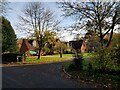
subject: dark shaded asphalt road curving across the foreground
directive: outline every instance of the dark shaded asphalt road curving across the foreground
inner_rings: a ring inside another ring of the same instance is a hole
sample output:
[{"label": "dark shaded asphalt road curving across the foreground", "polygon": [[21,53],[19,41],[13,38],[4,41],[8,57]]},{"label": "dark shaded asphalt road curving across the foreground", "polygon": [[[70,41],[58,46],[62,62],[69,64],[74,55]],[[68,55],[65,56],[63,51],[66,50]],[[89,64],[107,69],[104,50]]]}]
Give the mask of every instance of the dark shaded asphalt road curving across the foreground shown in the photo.
[{"label": "dark shaded asphalt road curving across the foreground", "polygon": [[2,67],[2,88],[90,88],[66,78],[65,63]]}]

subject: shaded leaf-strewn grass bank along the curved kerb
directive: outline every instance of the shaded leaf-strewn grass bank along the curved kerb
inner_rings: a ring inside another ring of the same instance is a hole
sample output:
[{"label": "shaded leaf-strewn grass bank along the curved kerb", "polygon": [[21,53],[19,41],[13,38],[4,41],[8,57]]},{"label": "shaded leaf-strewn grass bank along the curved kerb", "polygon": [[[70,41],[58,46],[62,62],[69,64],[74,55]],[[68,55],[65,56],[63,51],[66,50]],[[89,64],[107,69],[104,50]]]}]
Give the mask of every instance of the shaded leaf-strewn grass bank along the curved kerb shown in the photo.
[{"label": "shaded leaf-strewn grass bank along the curved kerb", "polygon": [[[80,82],[83,81],[85,83],[92,84],[95,87],[112,89],[120,88],[120,66],[114,65],[112,67],[112,70],[117,71],[117,73],[96,71],[95,68],[98,64],[92,60],[92,54],[85,53],[83,58],[84,61],[82,70],[76,70],[73,63],[67,63],[64,66],[65,70],[71,74],[73,78],[77,78],[76,80]],[[88,69],[89,62],[93,65],[92,70]]]}]

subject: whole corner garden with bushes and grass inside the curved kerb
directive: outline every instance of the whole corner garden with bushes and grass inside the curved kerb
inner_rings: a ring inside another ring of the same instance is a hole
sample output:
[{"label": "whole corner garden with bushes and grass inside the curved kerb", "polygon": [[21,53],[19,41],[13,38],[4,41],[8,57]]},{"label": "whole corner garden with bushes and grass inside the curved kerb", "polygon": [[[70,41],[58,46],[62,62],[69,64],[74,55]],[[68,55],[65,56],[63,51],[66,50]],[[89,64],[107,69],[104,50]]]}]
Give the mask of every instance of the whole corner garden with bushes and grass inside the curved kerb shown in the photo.
[{"label": "whole corner garden with bushes and grass inside the curved kerb", "polygon": [[[102,59],[100,61],[102,54]],[[109,89],[120,88],[120,49],[99,50],[79,54],[71,63],[64,65],[65,71],[78,82]]]}]

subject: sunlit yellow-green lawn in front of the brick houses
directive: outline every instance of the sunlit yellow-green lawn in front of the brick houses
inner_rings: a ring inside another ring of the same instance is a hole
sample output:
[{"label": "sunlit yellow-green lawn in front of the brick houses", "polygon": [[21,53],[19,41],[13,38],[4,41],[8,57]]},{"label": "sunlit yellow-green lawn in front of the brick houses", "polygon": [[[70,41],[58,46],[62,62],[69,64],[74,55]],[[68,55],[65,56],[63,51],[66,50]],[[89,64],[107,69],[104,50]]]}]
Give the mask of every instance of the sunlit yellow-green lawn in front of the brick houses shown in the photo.
[{"label": "sunlit yellow-green lawn in front of the brick houses", "polygon": [[[91,56],[91,54],[85,53],[84,58],[87,60],[88,56]],[[73,54],[63,54],[63,57],[60,58],[59,54],[54,55],[46,55],[41,56],[41,58],[38,60],[37,56],[31,56],[26,58],[26,63],[52,63],[52,62],[63,62],[63,61],[72,61],[73,60]]]}]

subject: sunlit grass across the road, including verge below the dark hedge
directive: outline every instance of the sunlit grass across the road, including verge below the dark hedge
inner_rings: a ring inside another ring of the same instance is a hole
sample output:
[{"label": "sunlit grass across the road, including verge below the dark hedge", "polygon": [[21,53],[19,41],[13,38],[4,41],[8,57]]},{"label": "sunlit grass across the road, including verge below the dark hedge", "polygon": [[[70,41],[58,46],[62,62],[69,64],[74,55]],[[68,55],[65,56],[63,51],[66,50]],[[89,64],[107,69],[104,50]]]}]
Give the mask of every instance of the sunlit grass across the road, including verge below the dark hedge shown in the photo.
[{"label": "sunlit grass across the road, including verge below the dark hedge", "polygon": [[[59,54],[41,56],[38,60],[37,56],[31,56],[26,58],[26,64],[42,64],[42,63],[55,63],[55,62],[64,62],[71,61],[73,54],[63,54],[63,57],[60,58]],[[7,62],[6,64],[16,64],[16,62]],[[17,62],[17,64],[23,64],[22,62]]]}]

